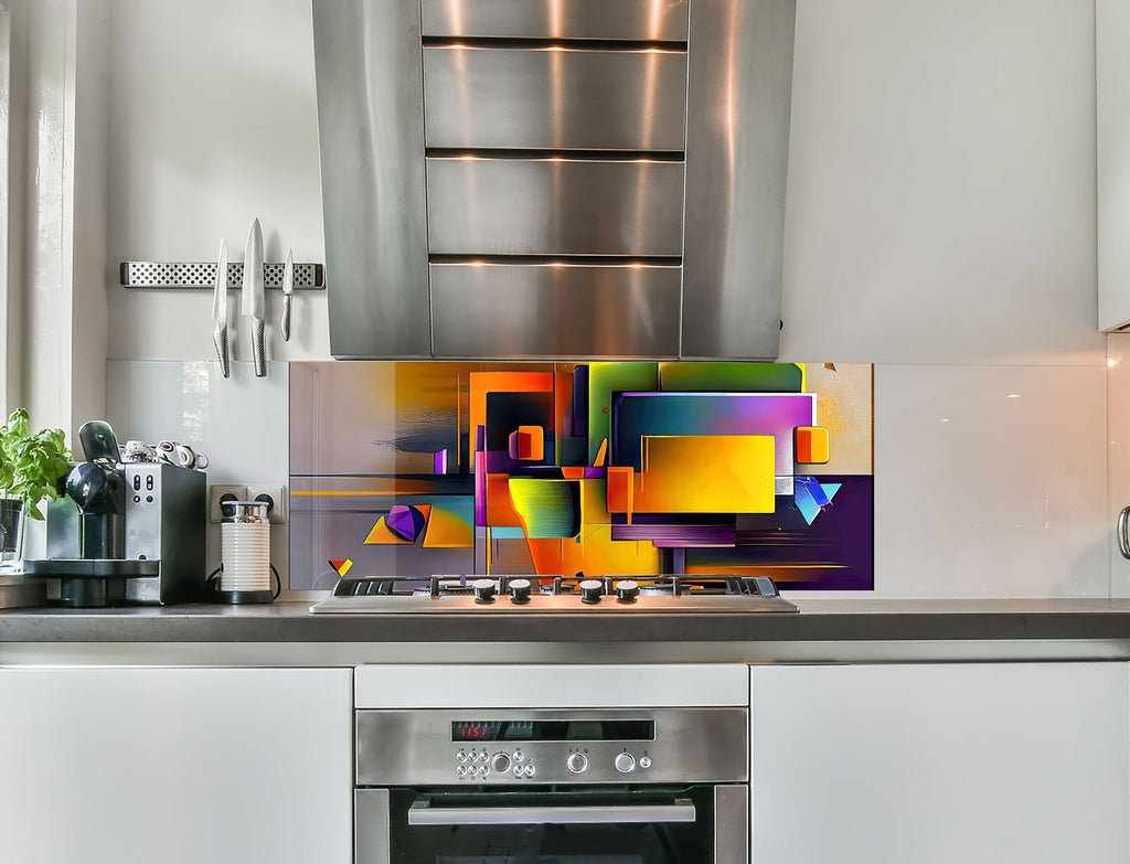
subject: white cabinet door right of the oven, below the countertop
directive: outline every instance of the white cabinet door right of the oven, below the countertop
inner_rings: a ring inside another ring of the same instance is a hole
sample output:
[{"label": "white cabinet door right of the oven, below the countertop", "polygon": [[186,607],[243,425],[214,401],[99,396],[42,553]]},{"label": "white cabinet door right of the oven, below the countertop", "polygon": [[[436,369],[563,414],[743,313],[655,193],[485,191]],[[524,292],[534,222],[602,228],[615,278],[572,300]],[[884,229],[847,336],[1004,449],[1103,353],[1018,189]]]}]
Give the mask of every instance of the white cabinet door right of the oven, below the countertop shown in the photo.
[{"label": "white cabinet door right of the oven, below the countertop", "polygon": [[1125,864],[1124,663],[754,667],[755,864]]}]

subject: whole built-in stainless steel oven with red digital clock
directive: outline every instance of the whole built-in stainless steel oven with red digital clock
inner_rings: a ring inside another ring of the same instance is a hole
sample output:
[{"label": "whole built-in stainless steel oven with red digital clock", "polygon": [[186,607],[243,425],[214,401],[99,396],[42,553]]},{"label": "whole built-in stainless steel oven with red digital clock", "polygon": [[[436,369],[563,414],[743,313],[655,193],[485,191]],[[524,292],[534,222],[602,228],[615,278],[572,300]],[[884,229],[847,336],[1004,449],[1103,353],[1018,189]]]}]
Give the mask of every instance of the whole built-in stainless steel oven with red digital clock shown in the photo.
[{"label": "whole built-in stainless steel oven with red digital clock", "polygon": [[747,864],[742,707],[356,713],[358,864]]}]

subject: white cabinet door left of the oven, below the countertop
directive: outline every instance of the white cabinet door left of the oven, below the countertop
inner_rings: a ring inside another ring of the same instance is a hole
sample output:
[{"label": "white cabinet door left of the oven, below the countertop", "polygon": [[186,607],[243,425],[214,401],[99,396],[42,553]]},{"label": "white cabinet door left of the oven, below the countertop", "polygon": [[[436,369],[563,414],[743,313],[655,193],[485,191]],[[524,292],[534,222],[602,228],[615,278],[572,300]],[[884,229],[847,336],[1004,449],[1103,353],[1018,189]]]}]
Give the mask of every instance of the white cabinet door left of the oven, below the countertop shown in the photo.
[{"label": "white cabinet door left of the oven, below the countertop", "polygon": [[350,674],[0,670],[0,858],[348,864]]}]

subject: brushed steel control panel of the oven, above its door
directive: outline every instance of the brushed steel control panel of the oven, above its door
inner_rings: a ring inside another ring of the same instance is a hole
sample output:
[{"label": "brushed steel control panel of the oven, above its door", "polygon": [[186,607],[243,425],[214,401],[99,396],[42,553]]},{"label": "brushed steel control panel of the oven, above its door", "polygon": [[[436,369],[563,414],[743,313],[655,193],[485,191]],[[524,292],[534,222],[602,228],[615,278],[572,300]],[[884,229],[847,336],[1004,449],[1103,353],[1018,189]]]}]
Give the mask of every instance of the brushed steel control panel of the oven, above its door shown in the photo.
[{"label": "brushed steel control panel of the oven, above its door", "polygon": [[[594,669],[593,674],[599,674]],[[614,767],[620,752],[646,753],[652,767],[635,773],[637,784],[744,783],[747,775],[748,712],[745,708],[640,708],[503,710],[358,710],[356,717],[357,784],[446,785],[460,783],[459,752],[521,750],[525,765],[536,766],[539,784],[623,784],[625,775]],[[458,721],[616,721],[654,719],[654,741],[522,741],[476,744],[452,741]],[[571,752],[584,747],[589,768],[574,774],[567,767]],[[484,760],[486,763],[486,760]],[[512,773],[489,775],[501,786],[531,783]]]}]

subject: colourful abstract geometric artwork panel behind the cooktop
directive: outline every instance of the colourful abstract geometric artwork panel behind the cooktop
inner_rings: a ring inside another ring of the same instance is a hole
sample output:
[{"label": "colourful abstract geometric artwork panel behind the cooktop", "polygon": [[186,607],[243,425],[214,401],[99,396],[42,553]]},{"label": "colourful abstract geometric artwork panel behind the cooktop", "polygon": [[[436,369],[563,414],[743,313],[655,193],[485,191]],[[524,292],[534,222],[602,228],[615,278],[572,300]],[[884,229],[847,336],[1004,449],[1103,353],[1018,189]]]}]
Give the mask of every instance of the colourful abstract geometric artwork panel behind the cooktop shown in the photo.
[{"label": "colourful abstract geometric artwork panel behind the cooktop", "polygon": [[293,363],[290,587],[768,575],[873,586],[872,368]]}]

